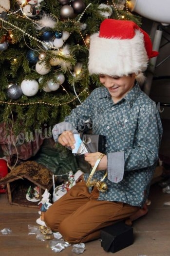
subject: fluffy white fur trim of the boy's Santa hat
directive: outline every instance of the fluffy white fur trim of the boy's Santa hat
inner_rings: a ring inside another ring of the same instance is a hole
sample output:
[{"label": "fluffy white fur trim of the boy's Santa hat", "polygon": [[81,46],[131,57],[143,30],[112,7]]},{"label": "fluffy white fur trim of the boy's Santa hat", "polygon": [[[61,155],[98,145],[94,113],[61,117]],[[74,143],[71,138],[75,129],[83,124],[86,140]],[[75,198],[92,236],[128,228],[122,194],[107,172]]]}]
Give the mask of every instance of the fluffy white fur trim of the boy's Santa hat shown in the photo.
[{"label": "fluffy white fur trim of the boy's Santa hat", "polygon": [[144,35],[135,30],[132,39],[103,38],[95,33],[90,39],[89,72],[123,76],[140,73],[148,67]]}]

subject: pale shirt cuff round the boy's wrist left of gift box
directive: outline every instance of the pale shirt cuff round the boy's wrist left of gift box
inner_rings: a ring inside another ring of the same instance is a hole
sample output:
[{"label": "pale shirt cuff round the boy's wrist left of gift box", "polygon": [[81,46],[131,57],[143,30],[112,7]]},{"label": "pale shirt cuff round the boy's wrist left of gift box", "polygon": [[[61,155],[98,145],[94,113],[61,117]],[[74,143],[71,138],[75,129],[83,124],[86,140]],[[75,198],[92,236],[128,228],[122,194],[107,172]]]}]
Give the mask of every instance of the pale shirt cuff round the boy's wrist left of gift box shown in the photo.
[{"label": "pale shirt cuff round the boy's wrist left of gift box", "polygon": [[71,123],[65,122],[65,121],[61,123],[57,123],[52,130],[53,138],[55,142],[57,142],[59,135],[64,131],[72,131],[73,134],[78,134],[77,130],[73,127]]}]

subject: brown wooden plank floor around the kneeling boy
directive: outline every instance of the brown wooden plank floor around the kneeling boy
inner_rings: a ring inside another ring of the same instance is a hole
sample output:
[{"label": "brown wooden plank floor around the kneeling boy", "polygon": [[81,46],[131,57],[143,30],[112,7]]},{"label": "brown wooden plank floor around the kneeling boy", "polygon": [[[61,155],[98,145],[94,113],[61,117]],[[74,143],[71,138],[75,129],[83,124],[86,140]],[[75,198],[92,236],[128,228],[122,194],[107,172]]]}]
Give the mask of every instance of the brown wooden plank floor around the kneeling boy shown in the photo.
[{"label": "brown wooden plank floor around the kneeling boy", "polygon": [[[134,243],[114,253],[115,256],[170,256],[170,194],[163,193],[158,184],[151,186],[149,213],[133,223]],[[10,205],[7,195],[0,194],[0,231],[10,228],[10,234],[0,233],[0,256],[54,256],[49,241],[29,235],[28,225],[37,225],[38,209]],[[85,244],[84,256],[106,256],[100,241]],[[68,247],[59,256],[75,256]]]}]

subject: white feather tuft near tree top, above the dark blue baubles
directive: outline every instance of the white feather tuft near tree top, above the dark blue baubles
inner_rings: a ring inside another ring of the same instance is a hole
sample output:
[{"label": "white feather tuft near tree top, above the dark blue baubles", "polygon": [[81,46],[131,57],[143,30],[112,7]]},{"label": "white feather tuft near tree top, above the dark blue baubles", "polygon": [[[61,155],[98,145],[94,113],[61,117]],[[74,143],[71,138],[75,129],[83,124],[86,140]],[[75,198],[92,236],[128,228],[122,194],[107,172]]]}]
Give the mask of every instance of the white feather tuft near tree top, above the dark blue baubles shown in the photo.
[{"label": "white feather tuft near tree top, above the dark blue baubles", "polygon": [[54,17],[52,17],[51,14],[46,14],[43,12],[43,14],[40,16],[40,20],[37,22],[37,29],[41,30],[43,27],[51,27],[54,28],[57,21],[55,20]]}]

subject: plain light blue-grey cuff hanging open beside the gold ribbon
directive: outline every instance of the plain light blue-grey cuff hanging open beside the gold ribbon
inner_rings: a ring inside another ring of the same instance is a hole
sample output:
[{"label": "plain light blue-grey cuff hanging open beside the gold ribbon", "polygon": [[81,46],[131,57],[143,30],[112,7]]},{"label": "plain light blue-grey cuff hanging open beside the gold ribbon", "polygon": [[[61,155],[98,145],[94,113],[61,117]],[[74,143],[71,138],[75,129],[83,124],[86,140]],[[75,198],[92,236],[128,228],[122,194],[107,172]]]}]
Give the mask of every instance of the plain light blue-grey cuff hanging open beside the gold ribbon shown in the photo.
[{"label": "plain light blue-grey cuff hanging open beside the gold ribbon", "polygon": [[125,159],[124,151],[108,153],[108,179],[111,182],[119,183],[123,180]]}]

